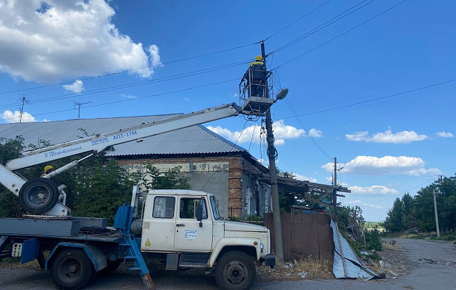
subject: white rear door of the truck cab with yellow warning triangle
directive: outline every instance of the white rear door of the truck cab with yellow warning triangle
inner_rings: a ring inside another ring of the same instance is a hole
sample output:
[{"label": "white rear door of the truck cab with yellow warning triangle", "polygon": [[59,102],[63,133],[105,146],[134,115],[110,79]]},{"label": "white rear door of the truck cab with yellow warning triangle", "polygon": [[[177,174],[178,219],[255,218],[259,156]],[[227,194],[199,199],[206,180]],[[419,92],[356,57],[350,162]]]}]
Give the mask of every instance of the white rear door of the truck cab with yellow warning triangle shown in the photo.
[{"label": "white rear door of the truck cab with yellow warning triangle", "polygon": [[142,251],[174,251],[175,209],[176,197],[153,197],[152,211],[144,212]]}]

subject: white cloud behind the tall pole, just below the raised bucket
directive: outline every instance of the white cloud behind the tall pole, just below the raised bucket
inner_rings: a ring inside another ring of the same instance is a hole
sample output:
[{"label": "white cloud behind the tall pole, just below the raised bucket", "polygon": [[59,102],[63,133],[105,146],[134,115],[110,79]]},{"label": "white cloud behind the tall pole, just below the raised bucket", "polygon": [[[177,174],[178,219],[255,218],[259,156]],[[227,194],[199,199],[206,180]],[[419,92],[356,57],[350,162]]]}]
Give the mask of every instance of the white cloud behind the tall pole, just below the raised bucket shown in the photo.
[{"label": "white cloud behind the tall pole, just below the raised bucket", "polygon": [[[261,128],[260,126],[249,126],[244,129],[242,135],[239,131],[230,131],[227,128],[222,128],[220,126],[207,126],[207,128],[218,135],[221,135],[232,142],[247,143],[247,142],[258,142],[260,138]],[[296,139],[299,137],[305,136],[305,131],[303,129],[295,128],[294,126],[285,125],[283,120],[278,120],[272,124],[272,130],[274,131],[274,145],[280,146],[285,144],[285,139]],[[254,138],[252,139],[252,134]],[[264,136],[261,136],[264,137]]]}]

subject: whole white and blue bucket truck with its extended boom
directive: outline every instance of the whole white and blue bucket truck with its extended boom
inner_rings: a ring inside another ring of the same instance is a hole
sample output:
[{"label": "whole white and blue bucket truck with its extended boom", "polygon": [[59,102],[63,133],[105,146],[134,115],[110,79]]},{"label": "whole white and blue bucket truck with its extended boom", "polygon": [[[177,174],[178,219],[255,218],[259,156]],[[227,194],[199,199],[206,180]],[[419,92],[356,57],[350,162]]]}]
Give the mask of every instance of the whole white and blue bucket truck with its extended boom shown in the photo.
[{"label": "whole white and blue bucket truck with its extended boom", "polygon": [[[104,218],[72,217],[65,205],[65,186],[50,177],[62,173],[108,146],[140,142],[142,138],[236,115],[264,115],[270,98],[249,97],[244,104],[227,104],[198,112],[100,133],[46,148],[26,151],[0,164],[0,183],[19,197],[29,215],[0,218],[0,258],[37,259],[50,271],[59,289],[84,287],[95,273],[114,271],[120,263],[142,276],[155,289],[146,260],[160,260],[168,270],[202,268],[215,271],[222,289],[249,289],[255,264],[274,267],[269,230],[229,222],[218,211],[214,195],[201,191],[153,190],[143,196],[133,188],[130,204],[120,206],[112,228]],[[16,171],[70,155],[90,153],[43,177],[26,180]],[[106,202],[109,202],[106,200]],[[138,216],[138,203],[142,214]],[[44,253],[47,257],[45,258]],[[48,253],[48,254],[47,254]]]}]

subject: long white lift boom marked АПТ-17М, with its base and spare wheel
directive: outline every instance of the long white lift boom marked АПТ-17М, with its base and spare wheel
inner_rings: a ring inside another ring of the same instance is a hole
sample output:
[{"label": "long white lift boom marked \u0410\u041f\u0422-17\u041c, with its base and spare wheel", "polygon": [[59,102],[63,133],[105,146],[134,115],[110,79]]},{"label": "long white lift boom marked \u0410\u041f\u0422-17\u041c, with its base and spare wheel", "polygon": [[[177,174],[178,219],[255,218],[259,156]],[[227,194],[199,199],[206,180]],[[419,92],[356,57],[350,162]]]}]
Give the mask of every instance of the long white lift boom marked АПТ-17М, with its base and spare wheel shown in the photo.
[{"label": "long white lift boom marked \u0410\u041f\u0422-17\u041c, with its base and spare wheel", "polygon": [[81,153],[90,152],[91,155],[97,154],[104,151],[108,146],[134,140],[140,142],[146,137],[216,121],[218,119],[234,117],[240,114],[264,115],[266,110],[269,109],[269,106],[274,104],[274,101],[269,98],[262,98],[258,104],[256,103],[258,103],[258,100],[254,101],[256,109],[249,107],[250,110],[246,110],[234,103],[225,104],[156,122],[122,128],[108,133],[99,133],[91,137],[26,151],[22,157],[9,160],[5,164],[0,164],[0,183],[19,197],[19,202],[26,211],[37,215],[45,213],[46,215],[66,216],[69,215],[70,209],[65,206],[66,193],[64,193],[64,186],[57,188],[48,178],[67,171],[69,168],[73,168],[90,155],[82,158],[82,160],[70,162],[61,168],[57,168],[53,173],[44,175],[45,178],[26,180],[15,171]]}]

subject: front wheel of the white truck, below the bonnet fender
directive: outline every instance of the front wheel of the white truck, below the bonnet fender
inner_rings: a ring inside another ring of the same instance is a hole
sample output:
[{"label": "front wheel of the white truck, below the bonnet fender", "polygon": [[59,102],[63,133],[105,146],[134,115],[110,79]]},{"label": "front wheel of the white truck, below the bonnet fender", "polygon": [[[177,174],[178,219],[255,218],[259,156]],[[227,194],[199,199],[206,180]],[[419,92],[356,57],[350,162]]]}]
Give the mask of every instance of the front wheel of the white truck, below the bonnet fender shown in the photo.
[{"label": "front wheel of the white truck, below the bonnet fender", "polygon": [[250,289],[255,275],[254,262],[249,255],[240,251],[225,253],[216,265],[216,282],[220,289]]}]

